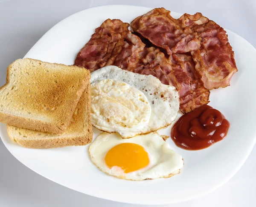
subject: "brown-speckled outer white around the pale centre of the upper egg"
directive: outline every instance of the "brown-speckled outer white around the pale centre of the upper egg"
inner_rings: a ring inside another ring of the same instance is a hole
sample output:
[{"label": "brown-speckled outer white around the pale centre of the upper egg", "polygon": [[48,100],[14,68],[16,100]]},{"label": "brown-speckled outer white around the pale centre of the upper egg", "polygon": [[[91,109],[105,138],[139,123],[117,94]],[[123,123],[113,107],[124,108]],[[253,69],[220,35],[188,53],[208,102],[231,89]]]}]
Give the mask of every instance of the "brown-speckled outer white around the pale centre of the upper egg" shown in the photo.
[{"label": "brown-speckled outer white around the pale centre of the upper egg", "polygon": [[[90,83],[93,84],[103,79],[112,79],[125,82],[131,87],[140,90],[148,100],[151,107],[151,115],[147,124],[137,130],[116,130],[122,138],[131,138],[136,135],[157,131],[160,128],[169,126],[177,117],[179,111],[179,94],[175,87],[164,85],[159,79],[152,75],[135,74],[110,65],[91,73]],[[124,91],[125,93],[125,91]],[[115,94],[112,94],[113,97]],[[113,132],[112,128],[93,125],[99,130]],[[134,128],[136,128],[134,124]]]}]

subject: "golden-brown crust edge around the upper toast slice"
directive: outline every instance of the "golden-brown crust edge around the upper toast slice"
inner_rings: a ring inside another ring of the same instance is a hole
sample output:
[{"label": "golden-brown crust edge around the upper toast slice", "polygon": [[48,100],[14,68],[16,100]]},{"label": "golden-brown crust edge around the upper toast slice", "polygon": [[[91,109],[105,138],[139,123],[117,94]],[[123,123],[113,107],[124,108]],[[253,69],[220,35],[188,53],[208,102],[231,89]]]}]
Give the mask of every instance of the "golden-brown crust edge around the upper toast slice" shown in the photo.
[{"label": "golden-brown crust edge around the upper toast slice", "polygon": [[[26,60],[39,62],[40,65],[41,63],[43,63],[40,60],[33,60],[29,58],[26,58]],[[0,87],[0,91],[9,85],[10,70],[14,63],[15,62],[13,62],[11,65],[8,66],[7,74],[6,74],[6,84]],[[47,62],[44,62],[44,63],[47,63]],[[49,64],[67,67],[67,65],[62,65],[62,64],[56,64],[56,63],[49,63]],[[70,67],[76,67],[76,66],[70,66]],[[0,111],[0,122],[6,123],[8,125],[12,125],[18,128],[27,128],[31,130],[38,130],[38,131],[49,132],[49,133],[63,133],[67,129],[67,127],[70,125],[70,121],[71,121],[73,112],[76,109],[77,103],[79,102],[81,95],[83,94],[88,82],[90,81],[90,72],[87,71],[86,69],[84,69],[84,71],[86,72],[84,73],[84,77],[81,79],[81,87],[77,91],[76,96],[73,97],[68,110],[65,112],[67,117],[65,122],[56,124],[56,123],[46,122],[43,120],[31,119],[23,116],[15,116],[13,114],[4,113],[1,111]]]}]

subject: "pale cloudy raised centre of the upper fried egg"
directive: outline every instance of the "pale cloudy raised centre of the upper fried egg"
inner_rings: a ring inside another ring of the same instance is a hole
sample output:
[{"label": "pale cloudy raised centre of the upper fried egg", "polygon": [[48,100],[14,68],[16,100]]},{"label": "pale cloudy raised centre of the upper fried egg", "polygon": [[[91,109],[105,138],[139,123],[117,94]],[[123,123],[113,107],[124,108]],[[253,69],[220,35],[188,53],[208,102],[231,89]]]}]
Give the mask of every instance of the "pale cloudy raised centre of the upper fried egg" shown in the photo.
[{"label": "pale cloudy raised centre of the upper fried egg", "polygon": [[103,79],[91,84],[91,117],[103,131],[121,135],[142,130],[149,122],[151,107],[146,96],[125,82]]}]

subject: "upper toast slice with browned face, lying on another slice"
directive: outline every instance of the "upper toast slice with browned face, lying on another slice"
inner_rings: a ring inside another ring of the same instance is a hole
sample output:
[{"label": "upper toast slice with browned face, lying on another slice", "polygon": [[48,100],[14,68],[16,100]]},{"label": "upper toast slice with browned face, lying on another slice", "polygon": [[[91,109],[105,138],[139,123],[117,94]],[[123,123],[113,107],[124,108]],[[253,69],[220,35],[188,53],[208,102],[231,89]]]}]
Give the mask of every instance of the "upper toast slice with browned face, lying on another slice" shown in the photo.
[{"label": "upper toast slice with browned face, lying on another slice", "polygon": [[0,122],[18,128],[63,133],[90,82],[77,66],[18,59],[0,88]]}]

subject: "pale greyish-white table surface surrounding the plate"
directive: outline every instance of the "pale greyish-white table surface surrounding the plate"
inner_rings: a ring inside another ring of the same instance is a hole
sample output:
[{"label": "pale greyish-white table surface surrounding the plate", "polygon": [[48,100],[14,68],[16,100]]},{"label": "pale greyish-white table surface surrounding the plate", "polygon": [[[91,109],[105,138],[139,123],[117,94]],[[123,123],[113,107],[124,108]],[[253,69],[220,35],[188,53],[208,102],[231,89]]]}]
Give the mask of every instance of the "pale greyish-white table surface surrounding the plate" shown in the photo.
[{"label": "pale greyish-white table surface surrounding the plate", "polygon": [[[77,11],[106,4],[201,12],[256,47],[255,0],[0,0],[0,85],[5,83],[7,66],[22,58],[49,28]],[[255,196],[256,147],[239,172],[222,187],[204,197],[165,206],[254,207]],[[17,161],[0,140],[0,207],[58,206],[139,207],[87,196],[49,181]]]}]

